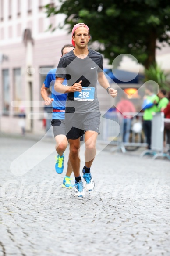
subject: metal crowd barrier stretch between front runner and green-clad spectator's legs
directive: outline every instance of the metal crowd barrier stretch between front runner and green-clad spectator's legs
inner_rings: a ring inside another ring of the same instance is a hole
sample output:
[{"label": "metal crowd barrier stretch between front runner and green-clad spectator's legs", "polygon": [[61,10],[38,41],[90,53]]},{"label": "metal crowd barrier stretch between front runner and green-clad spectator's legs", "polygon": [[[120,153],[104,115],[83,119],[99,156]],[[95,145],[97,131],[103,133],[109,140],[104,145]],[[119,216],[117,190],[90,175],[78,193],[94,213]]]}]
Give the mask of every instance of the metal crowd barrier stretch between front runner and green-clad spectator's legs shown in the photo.
[{"label": "metal crowd barrier stretch between front runner and green-clad spectator's legs", "polygon": [[[142,129],[143,113],[107,112],[102,115],[100,125],[100,143],[110,144],[111,151],[121,149],[132,151],[146,147],[146,138]],[[116,146],[116,147],[115,147]]]}]

